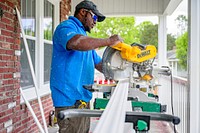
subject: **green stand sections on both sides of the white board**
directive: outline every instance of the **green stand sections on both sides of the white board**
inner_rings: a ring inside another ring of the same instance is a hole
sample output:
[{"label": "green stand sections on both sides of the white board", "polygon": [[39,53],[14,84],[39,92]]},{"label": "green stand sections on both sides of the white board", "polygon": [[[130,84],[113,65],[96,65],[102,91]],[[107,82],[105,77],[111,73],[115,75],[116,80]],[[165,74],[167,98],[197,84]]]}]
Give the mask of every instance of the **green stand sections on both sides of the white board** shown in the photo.
[{"label": "green stand sections on both sides of the white board", "polygon": [[[105,109],[109,99],[106,98],[96,98],[94,102],[94,109]],[[141,109],[143,112],[166,112],[166,105],[161,105],[156,102],[142,102],[142,101],[132,101],[133,111],[138,111]]]}]

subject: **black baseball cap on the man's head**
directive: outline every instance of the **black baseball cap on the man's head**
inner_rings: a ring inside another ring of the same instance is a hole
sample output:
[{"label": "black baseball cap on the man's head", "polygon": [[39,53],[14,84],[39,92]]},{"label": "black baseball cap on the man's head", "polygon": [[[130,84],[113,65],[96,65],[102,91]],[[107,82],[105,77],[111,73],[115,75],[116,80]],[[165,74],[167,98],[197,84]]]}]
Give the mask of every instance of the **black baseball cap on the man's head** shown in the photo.
[{"label": "black baseball cap on the man's head", "polygon": [[81,9],[81,8],[91,10],[95,15],[97,15],[97,17],[98,17],[97,21],[98,22],[102,22],[106,18],[103,14],[101,14],[99,12],[99,10],[97,10],[97,6],[92,1],[84,0],[84,1],[80,2],[76,6],[76,10]]}]

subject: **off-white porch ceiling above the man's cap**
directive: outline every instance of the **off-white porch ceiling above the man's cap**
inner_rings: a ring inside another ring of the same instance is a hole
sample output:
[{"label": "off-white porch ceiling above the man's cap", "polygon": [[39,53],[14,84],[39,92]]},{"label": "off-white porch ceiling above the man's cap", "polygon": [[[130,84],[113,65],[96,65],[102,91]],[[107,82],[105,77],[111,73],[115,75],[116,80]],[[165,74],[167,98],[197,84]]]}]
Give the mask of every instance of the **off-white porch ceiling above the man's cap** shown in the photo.
[{"label": "off-white porch ceiling above the man's cap", "polygon": [[[82,0],[72,0],[72,14]],[[182,0],[92,0],[106,16],[171,15]]]}]

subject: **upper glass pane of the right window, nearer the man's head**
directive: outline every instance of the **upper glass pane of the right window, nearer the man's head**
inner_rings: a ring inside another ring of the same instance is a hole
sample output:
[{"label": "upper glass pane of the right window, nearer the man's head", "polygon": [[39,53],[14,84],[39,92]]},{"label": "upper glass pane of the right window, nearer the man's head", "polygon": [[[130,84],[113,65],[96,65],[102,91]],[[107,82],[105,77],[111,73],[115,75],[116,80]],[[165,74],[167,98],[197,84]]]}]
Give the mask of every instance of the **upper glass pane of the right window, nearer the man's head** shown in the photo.
[{"label": "upper glass pane of the right window, nearer the man's head", "polygon": [[52,40],[54,6],[47,0],[44,0],[44,39]]}]

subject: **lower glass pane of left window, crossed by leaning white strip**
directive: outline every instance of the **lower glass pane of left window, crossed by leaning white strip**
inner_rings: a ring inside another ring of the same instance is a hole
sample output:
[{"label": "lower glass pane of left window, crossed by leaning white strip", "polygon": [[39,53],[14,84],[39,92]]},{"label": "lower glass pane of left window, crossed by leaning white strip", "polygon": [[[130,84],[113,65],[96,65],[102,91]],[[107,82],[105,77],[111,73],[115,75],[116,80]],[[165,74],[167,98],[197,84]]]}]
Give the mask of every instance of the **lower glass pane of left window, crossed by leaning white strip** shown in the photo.
[{"label": "lower glass pane of left window, crossed by leaning white strip", "polygon": [[[27,39],[27,43],[28,43],[33,67],[35,69],[35,41]],[[20,59],[20,63],[21,63],[21,80],[20,80],[21,87],[23,89],[33,87],[34,86],[33,78],[32,78],[32,75],[31,75],[31,70],[30,70],[30,66],[29,66],[29,63],[28,63],[28,58],[27,58],[26,49],[25,49],[25,46],[24,46],[23,39],[21,39],[21,59]]]}]

